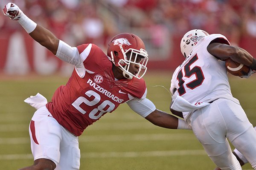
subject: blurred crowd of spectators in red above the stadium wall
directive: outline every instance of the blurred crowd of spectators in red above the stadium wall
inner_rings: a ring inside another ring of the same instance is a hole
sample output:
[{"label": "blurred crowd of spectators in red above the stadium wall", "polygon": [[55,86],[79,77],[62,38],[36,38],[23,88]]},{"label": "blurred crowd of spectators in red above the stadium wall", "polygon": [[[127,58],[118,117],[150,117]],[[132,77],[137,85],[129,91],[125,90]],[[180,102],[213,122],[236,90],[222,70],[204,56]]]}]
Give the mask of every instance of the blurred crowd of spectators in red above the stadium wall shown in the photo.
[{"label": "blurred crowd of spectators in red above the stadium wall", "polygon": [[[9,1],[2,0],[1,7]],[[119,32],[148,30],[155,45],[165,34],[199,28],[224,34],[233,45],[256,37],[256,0],[12,0],[36,23],[70,45],[106,46]],[[0,31],[22,28],[0,15]]]}]

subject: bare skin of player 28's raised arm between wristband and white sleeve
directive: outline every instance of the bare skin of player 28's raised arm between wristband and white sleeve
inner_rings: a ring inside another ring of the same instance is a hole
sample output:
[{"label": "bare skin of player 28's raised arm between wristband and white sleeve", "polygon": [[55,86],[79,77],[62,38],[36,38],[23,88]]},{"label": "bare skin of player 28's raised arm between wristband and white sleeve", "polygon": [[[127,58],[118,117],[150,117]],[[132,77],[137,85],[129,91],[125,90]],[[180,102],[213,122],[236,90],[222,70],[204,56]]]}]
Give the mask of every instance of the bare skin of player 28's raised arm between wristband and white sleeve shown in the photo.
[{"label": "bare skin of player 28's raised arm between wristband and white sleeve", "polygon": [[35,30],[29,34],[35,41],[46,47],[49,51],[52,51],[56,55],[58,50],[59,39],[55,37],[46,28],[37,25]]}]

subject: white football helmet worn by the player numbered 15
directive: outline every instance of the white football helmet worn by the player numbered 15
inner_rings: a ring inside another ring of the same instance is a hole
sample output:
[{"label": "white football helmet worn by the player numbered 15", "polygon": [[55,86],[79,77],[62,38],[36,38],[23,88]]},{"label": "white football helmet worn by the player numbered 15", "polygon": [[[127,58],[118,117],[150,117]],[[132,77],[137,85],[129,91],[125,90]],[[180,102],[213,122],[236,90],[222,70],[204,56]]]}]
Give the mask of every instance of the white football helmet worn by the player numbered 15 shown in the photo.
[{"label": "white football helmet worn by the player numbered 15", "polygon": [[193,29],[188,31],[180,41],[180,51],[185,58],[189,56],[192,51],[192,48],[197,45],[198,41],[202,37],[209,35],[206,31],[201,29]]}]

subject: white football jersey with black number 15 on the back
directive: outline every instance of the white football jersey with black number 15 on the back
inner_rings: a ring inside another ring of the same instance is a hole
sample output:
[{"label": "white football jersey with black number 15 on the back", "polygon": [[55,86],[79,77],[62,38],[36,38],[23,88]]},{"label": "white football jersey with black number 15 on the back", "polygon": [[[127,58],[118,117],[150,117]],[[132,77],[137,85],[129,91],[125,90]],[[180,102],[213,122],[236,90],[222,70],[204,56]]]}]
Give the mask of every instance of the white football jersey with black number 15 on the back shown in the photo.
[{"label": "white football jersey with black number 15 on the back", "polygon": [[[199,40],[172,76],[170,91],[173,97],[179,95],[189,103],[212,102],[219,98],[234,99],[225,62],[207,51],[207,46],[215,39],[230,45],[227,38],[221,34],[211,34]],[[186,119],[188,113],[183,112],[183,116]]]}]

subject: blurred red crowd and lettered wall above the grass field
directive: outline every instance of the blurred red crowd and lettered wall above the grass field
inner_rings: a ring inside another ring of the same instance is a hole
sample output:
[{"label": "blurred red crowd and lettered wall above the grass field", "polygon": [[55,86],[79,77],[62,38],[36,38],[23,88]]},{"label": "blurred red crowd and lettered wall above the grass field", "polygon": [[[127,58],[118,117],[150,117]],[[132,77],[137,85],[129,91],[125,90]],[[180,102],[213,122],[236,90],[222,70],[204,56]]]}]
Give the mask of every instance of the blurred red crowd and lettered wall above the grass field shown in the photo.
[{"label": "blurred red crowd and lettered wall above the grass field", "polygon": [[[1,0],[3,7],[8,0]],[[190,29],[224,34],[256,56],[255,0],[14,0],[32,20],[72,46],[95,43],[106,51],[120,32],[145,42],[149,70],[173,70],[182,61],[180,38]],[[6,74],[70,73],[31,40],[23,28],[0,15],[0,71]],[[15,49],[15,50],[14,50]],[[40,55],[38,55],[40,54]],[[72,69],[72,68],[70,68]]]}]

